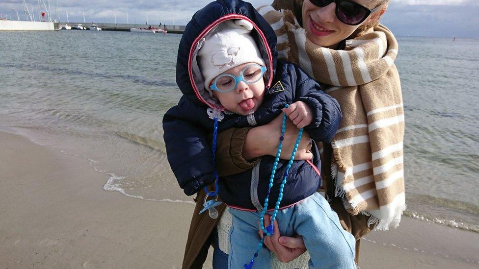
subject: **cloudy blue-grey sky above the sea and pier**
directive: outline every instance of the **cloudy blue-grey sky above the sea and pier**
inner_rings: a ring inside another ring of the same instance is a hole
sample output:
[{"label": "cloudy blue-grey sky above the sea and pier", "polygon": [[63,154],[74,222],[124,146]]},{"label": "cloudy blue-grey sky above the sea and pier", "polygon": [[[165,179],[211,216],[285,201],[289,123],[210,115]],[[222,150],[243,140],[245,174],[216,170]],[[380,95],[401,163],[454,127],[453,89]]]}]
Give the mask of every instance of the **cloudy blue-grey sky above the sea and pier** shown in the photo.
[{"label": "cloudy blue-grey sky above the sea and pier", "polygon": [[[39,13],[38,0],[25,0],[28,9],[33,5]],[[48,6],[48,0],[44,0]],[[272,0],[252,0],[255,6],[270,4]],[[185,25],[195,11],[210,0],[50,0],[54,19],[61,22]],[[57,8],[58,6],[58,8]],[[45,10],[45,8],[43,8]],[[58,12],[57,12],[58,10]],[[23,18],[22,0],[0,0],[0,17],[16,19],[18,11]],[[382,18],[396,35],[479,37],[479,0],[391,0]],[[37,15],[38,16],[38,15]]]}]

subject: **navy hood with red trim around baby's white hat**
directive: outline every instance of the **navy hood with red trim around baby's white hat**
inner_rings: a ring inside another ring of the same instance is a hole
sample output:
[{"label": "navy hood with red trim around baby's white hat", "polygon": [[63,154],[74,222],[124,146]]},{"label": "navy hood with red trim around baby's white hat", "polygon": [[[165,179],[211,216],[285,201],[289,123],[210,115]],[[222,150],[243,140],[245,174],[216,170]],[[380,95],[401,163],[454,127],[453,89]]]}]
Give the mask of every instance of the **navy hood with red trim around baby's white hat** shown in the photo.
[{"label": "navy hood with red trim around baby's white hat", "polygon": [[271,86],[278,55],[274,30],[251,3],[241,0],[216,0],[193,15],[191,21],[186,24],[178,48],[176,83],[182,93],[196,104],[224,110],[221,104],[205,90],[203,75],[199,70],[196,57],[205,37],[213,32],[218,24],[237,19],[244,19],[253,24],[251,36],[266,63],[266,89]]}]

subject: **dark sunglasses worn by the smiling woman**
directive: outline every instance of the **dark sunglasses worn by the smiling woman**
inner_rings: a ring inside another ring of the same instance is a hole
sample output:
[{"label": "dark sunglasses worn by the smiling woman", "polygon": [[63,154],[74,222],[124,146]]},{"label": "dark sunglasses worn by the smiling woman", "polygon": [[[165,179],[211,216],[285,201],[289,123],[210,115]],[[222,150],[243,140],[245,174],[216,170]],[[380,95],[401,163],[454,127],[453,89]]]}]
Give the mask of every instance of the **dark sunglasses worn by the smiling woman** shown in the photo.
[{"label": "dark sunglasses worn by the smiling woman", "polygon": [[336,17],[348,25],[358,25],[366,20],[371,13],[376,11],[381,5],[369,9],[363,5],[350,0],[309,0],[318,7],[324,7],[328,4],[336,3]]}]

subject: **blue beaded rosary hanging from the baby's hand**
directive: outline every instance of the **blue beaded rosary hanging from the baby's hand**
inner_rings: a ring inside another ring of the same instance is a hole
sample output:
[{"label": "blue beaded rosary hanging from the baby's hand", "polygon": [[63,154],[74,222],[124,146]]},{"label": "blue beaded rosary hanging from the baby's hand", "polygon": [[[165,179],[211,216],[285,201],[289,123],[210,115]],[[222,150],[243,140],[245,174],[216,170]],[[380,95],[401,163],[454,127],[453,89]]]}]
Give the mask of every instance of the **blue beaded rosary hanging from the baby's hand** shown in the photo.
[{"label": "blue beaded rosary hanging from the baby's hand", "polygon": [[[288,108],[289,105],[286,104],[285,107]],[[269,224],[269,226],[267,226],[265,228],[264,217],[265,217],[266,211],[268,209],[269,194],[270,194],[270,191],[271,191],[271,187],[273,187],[274,174],[276,173],[276,169],[277,169],[278,161],[279,161],[279,156],[281,155],[281,148],[283,147],[284,133],[286,131],[286,120],[287,120],[287,116],[285,114],[283,116],[283,125],[281,126],[281,136],[279,138],[278,151],[276,153],[276,158],[274,159],[273,169],[271,170],[271,176],[269,176],[269,185],[268,185],[268,192],[267,192],[267,195],[266,195],[266,198],[265,198],[265,205],[264,205],[263,210],[261,211],[261,215],[260,215],[260,226],[261,226],[261,229],[263,230],[263,238],[260,240],[260,243],[258,244],[258,247],[256,248],[256,252],[253,255],[253,259],[251,259],[249,264],[244,264],[245,269],[253,268],[254,261],[255,261],[256,257],[258,257],[258,252],[260,252],[261,248],[263,247],[265,237],[273,235],[273,221],[276,219],[276,214],[278,213],[278,210],[279,210],[279,204],[281,203],[281,199],[283,198],[283,188],[284,188],[284,186],[286,184],[286,180],[288,178],[288,172],[290,171],[291,165],[293,164],[294,155],[296,155],[296,150],[298,149],[299,142],[301,141],[301,136],[303,135],[303,128],[301,128],[301,129],[299,129],[298,138],[296,139],[296,144],[294,144],[294,148],[293,148],[293,152],[291,153],[290,161],[288,162],[288,165],[286,166],[286,171],[283,175],[283,181],[281,182],[281,185],[280,185],[280,188],[279,188],[279,196],[278,196],[278,199],[276,200],[276,205],[274,206],[273,214],[271,215],[271,223]]]}]

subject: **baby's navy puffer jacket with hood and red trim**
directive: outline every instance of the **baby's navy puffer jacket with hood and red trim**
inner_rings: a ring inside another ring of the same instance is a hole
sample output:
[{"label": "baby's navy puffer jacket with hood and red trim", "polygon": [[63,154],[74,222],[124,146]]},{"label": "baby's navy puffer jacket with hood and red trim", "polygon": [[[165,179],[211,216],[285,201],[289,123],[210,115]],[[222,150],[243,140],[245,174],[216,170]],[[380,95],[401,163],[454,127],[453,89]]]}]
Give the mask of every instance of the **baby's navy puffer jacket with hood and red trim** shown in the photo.
[{"label": "baby's navy puffer jacket with hood and red trim", "polygon": [[[254,121],[246,116],[226,114],[219,122],[218,131],[232,127],[263,125],[281,114],[285,104],[301,100],[314,112],[313,122],[305,127],[311,138],[329,142],[341,121],[339,104],[321,91],[319,84],[292,63],[276,61],[276,36],[256,9],[240,0],[217,0],[195,13],[186,25],[177,59],[177,83],[184,96],[163,118],[164,141],[168,161],[180,187],[186,195],[193,195],[213,183],[213,155],[207,135],[213,132],[213,120],[208,109],[224,110],[204,89],[196,54],[203,38],[221,22],[245,19],[254,25],[252,36],[266,63],[266,92],[263,104],[254,113]],[[281,84],[281,85],[280,85]],[[282,86],[282,87],[281,87]],[[284,89],[284,90],[283,90]],[[272,138],[278,139],[279,138]],[[314,143],[313,143],[314,144]],[[316,147],[311,161],[295,161],[289,172],[281,206],[289,205],[313,194],[319,187],[320,160]],[[269,173],[274,158],[262,157],[259,170],[258,198],[266,197]],[[287,161],[280,161],[275,183],[281,182]],[[255,210],[250,196],[252,170],[228,177],[220,177],[219,195],[229,205]],[[274,184],[271,199],[275,200],[279,184]],[[276,195],[276,196],[275,196]],[[274,204],[272,205],[274,207]]]}]

